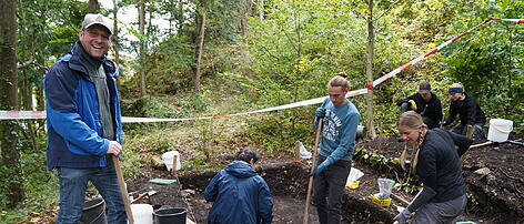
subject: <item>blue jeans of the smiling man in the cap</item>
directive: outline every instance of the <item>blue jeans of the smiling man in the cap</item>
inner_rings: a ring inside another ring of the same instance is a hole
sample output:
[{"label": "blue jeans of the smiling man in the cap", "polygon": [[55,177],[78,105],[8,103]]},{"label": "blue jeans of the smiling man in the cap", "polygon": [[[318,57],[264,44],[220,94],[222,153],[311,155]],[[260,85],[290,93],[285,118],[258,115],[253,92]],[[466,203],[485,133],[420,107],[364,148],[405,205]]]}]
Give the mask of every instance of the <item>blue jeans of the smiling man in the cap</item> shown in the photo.
[{"label": "blue jeans of the smiling man in the cap", "polygon": [[70,169],[59,167],[60,210],[57,224],[78,223],[82,216],[88,182],[97,187],[108,207],[109,224],[127,224],[128,218],[111,156],[105,167]]}]

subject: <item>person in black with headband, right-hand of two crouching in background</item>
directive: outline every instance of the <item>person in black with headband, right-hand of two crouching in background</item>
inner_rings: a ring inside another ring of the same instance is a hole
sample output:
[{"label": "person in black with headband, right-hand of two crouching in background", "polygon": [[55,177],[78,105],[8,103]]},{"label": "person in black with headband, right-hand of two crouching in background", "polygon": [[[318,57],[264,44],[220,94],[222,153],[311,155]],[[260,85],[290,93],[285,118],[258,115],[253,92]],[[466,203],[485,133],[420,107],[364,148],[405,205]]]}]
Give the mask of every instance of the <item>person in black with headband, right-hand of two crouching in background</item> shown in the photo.
[{"label": "person in black with headband, right-hand of two crouching in background", "polygon": [[450,92],[450,116],[444,122],[444,125],[450,125],[455,121],[456,115],[461,121],[451,131],[457,134],[466,135],[470,139],[484,138],[484,123],[486,123],[486,115],[482,111],[475,98],[467,94],[464,85],[454,83],[447,90]]}]

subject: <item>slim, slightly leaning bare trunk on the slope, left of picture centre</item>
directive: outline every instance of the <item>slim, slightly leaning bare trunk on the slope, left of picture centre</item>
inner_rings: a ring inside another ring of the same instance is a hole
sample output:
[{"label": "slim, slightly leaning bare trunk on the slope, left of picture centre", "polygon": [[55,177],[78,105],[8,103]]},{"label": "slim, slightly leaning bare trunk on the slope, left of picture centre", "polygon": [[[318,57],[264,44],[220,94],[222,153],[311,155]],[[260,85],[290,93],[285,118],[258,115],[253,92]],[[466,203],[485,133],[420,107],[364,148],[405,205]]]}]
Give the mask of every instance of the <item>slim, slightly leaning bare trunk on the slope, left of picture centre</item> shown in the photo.
[{"label": "slim, slightly leaning bare trunk on the slope, left of picture centre", "polygon": [[200,10],[199,10],[199,35],[196,38],[196,59],[195,59],[195,68],[193,74],[193,88],[194,92],[200,92],[200,68],[202,65],[202,52],[204,47],[204,37],[205,37],[205,0],[200,0]]}]

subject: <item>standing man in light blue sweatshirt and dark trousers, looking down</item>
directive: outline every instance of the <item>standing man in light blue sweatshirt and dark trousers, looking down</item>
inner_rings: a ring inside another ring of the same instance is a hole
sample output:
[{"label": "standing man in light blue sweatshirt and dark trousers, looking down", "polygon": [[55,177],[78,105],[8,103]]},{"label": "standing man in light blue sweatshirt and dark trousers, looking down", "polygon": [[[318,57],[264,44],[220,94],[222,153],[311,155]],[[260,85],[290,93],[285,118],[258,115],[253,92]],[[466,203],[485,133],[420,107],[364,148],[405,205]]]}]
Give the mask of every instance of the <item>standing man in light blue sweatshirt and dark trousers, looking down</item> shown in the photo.
[{"label": "standing man in light blue sweatshirt and dark trousers, looking down", "polygon": [[[337,75],[330,80],[330,98],[315,111],[323,119],[322,141],[313,177],[313,203],[321,224],[341,222],[342,194],[351,171],[360,114],[345,98],[350,83]],[[316,150],[316,149],[315,149]]]}]

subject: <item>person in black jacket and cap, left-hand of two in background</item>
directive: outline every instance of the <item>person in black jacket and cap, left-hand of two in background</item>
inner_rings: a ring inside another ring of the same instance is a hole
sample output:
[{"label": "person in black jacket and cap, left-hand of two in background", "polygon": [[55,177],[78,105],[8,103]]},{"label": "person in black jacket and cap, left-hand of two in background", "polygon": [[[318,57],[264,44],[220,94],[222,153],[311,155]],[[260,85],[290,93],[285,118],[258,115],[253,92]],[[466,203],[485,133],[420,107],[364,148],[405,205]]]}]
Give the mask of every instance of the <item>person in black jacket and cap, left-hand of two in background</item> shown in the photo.
[{"label": "person in black jacket and cap, left-hand of two in background", "polygon": [[441,100],[435,93],[431,92],[431,85],[427,81],[419,84],[419,92],[396,102],[401,106],[401,113],[415,111],[422,115],[422,120],[430,129],[439,128],[442,121]]}]

